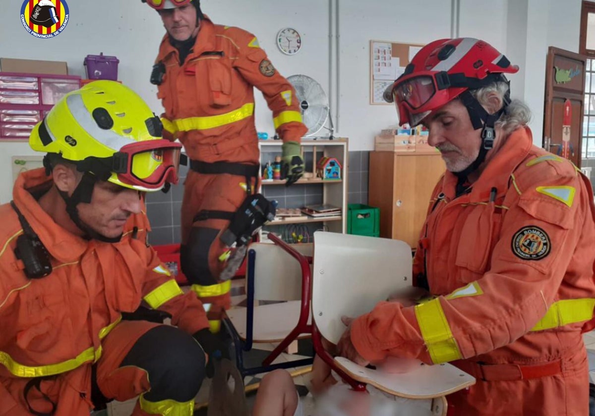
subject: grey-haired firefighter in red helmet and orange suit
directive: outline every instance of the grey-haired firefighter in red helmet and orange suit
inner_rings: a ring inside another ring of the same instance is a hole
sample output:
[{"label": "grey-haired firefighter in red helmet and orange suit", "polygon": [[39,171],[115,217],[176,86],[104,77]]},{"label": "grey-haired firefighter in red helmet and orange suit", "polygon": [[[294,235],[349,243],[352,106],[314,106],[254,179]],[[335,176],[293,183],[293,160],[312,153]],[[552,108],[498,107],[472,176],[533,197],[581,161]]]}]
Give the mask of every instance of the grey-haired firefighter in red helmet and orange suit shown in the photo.
[{"label": "grey-haired firefighter in red helmet and orange suit", "polygon": [[387,90],[400,124],[428,127],[446,162],[414,259],[430,297],[347,320],[339,349],[359,363],[449,361],[477,379],[448,396],[456,415],[587,415],[593,190],[533,145],[531,113],[509,97],[516,71],[486,42],[443,39]]}]

